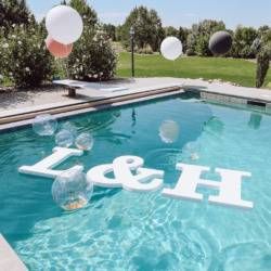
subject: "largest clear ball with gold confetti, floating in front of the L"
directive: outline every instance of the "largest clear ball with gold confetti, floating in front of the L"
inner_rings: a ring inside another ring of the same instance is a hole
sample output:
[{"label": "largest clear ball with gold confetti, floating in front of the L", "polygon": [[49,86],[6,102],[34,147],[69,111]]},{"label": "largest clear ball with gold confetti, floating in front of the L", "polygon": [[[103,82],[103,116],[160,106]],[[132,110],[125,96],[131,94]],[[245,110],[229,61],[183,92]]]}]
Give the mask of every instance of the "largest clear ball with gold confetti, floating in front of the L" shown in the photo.
[{"label": "largest clear ball with gold confetti, floating in front of the L", "polygon": [[52,185],[54,202],[64,210],[77,210],[87,206],[93,193],[93,184],[82,169],[70,169],[60,175]]}]

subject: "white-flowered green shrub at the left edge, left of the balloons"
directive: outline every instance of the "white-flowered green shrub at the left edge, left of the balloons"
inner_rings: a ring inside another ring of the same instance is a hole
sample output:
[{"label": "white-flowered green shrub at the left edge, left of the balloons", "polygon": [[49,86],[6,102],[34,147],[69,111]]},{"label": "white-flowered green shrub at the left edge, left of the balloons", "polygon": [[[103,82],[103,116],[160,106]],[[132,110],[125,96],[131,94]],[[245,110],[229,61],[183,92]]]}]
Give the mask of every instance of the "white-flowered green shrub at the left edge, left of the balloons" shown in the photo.
[{"label": "white-flowered green shrub at the left edge, left of the balloons", "polygon": [[0,40],[2,73],[16,87],[37,87],[50,79],[53,59],[39,27],[14,26]]}]

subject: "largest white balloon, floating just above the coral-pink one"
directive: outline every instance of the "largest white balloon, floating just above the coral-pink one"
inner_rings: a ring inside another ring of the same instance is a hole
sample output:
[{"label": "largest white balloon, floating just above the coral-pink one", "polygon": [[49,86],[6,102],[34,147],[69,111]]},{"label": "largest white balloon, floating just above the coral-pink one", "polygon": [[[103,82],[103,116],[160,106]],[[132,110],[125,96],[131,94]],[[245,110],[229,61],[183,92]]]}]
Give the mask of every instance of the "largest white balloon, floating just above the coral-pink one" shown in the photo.
[{"label": "largest white balloon, floating just above the coral-pink one", "polygon": [[63,44],[78,40],[83,29],[80,14],[67,5],[57,5],[49,11],[46,26],[49,35]]}]

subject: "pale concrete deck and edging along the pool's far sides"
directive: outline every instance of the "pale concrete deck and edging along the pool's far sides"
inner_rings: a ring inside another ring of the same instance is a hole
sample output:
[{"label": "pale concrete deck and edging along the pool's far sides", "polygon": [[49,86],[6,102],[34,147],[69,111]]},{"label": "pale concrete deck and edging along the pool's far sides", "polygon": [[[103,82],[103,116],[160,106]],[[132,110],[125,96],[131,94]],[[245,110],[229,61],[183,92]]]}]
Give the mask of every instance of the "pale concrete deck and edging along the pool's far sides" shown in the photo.
[{"label": "pale concrete deck and edging along the pool's far sides", "polygon": [[[198,91],[204,99],[224,103],[245,104],[247,101],[264,103],[264,106],[271,108],[270,90],[237,87],[220,81],[181,78],[136,78],[102,83],[78,81],[72,81],[72,83],[77,87],[83,85],[83,88],[76,90],[77,95],[75,98],[69,98],[67,95],[68,91],[63,88],[44,92],[0,93],[0,130],[9,129],[11,127],[10,122],[13,122],[12,126],[14,127],[16,124],[20,125],[18,122],[22,122],[22,120],[31,119],[36,115],[46,112],[59,115],[72,111],[87,111],[91,107],[99,109],[96,106],[103,105],[103,101],[107,101],[106,104],[109,106],[129,99],[144,98],[144,100],[147,100],[147,96],[151,95],[169,95],[177,90]],[[121,89],[118,90],[117,88]],[[28,122],[23,121],[21,125]]]}]

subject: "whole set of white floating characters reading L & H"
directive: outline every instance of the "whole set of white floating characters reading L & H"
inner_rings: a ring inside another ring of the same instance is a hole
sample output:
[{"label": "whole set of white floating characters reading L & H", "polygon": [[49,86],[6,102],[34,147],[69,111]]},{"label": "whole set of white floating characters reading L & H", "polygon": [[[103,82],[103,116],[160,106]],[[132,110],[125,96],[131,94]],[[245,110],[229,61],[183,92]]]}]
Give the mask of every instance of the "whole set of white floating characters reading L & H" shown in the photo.
[{"label": "whole set of white floating characters reading L & H", "polygon": [[[26,175],[56,178],[63,170],[54,170],[54,167],[72,156],[81,155],[82,151],[79,150],[55,147],[52,155],[34,166],[23,166],[18,171]],[[163,185],[164,171],[144,168],[143,165],[144,160],[141,157],[120,156],[114,159],[112,164],[91,168],[87,173],[87,179],[96,186],[108,189],[119,188],[134,192],[159,190]],[[75,166],[74,168],[83,170],[81,166]],[[203,194],[196,190],[198,186],[204,186],[218,191],[217,195],[208,197],[209,203],[246,209],[254,207],[253,202],[242,199],[243,178],[251,177],[251,173],[217,168],[216,172],[221,177],[221,180],[211,181],[201,178],[203,172],[210,170],[209,167],[177,164],[176,168],[181,170],[182,173],[173,189],[163,190],[164,196],[201,202],[203,201]]]}]

